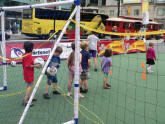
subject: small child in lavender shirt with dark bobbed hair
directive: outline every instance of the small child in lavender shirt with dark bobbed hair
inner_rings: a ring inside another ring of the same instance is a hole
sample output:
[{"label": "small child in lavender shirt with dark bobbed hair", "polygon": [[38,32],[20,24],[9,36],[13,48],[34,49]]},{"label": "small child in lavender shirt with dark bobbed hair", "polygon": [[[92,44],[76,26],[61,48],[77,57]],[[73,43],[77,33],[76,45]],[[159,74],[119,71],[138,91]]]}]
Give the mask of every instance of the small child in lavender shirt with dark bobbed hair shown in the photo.
[{"label": "small child in lavender shirt with dark bobbed hair", "polygon": [[103,85],[104,89],[111,88],[111,85],[107,83],[107,78],[112,66],[112,59],[110,58],[111,56],[112,56],[112,50],[110,48],[105,49],[104,56],[101,61],[101,68],[102,71],[104,72],[104,85]]}]

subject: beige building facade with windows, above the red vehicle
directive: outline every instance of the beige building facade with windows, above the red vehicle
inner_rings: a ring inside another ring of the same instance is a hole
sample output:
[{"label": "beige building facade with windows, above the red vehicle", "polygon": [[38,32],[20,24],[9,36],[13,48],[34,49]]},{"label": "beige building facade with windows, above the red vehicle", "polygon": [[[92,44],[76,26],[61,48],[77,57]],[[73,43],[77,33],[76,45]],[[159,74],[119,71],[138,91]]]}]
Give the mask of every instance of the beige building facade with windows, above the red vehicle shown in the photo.
[{"label": "beige building facade with windows, above the red vehicle", "polygon": [[[118,0],[86,0],[84,9],[95,7],[100,14],[117,17],[117,4]],[[141,0],[121,0],[120,5],[120,16],[142,18]],[[150,0],[149,15],[151,20],[165,25],[165,0]]]}]

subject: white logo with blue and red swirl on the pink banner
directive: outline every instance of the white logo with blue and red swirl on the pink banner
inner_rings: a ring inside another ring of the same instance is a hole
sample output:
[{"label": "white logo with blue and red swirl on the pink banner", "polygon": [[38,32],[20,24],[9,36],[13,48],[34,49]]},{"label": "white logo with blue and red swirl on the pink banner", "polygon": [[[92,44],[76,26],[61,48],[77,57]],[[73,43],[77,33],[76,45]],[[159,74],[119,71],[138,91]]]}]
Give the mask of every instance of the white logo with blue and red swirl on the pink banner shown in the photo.
[{"label": "white logo with blue and red swirl on the pink banner", "polygon": [[23,49],[20,49],[20,48],[12,48],[11,49],[11,58],[19,58],[21,56],[23,56],[24,54],[24,50]]}]

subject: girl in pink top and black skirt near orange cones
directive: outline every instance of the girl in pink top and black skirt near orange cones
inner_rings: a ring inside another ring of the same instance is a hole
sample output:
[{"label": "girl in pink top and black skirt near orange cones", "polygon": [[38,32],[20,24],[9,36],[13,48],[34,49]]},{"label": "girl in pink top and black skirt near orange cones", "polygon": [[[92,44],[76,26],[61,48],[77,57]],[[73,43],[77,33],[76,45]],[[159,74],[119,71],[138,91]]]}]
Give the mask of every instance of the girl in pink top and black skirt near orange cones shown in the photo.
[{"label": "girl in pink top and black skirt near orange cones", "polygon": [[152,68],[152,65],[155,64],[154,59],[156,61],[154,43],[152,42],[149,43],[149,48],[147,49],[147,53],[146,53],[146,59],[147,59],[146,64],[149,65],[147,68],[147,73],[152,73],[153,71],[151,70],[151,68]]}]

